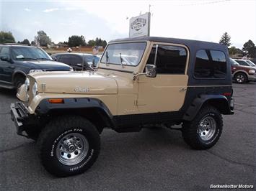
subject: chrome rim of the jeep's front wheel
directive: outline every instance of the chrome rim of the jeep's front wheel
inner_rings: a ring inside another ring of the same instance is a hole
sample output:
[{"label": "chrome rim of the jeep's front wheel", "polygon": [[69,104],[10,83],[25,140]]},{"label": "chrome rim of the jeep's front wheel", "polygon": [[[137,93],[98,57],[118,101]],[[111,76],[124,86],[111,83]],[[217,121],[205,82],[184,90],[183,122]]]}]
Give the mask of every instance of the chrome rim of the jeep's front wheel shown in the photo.
[{"label": "chrome rim of the jeep's front wheel", "polygon": [[66,134],[56,147],[56,156],[62,164],[71,166],[79,164],[88,153],[89,144],[87,138],[82,134]]}]

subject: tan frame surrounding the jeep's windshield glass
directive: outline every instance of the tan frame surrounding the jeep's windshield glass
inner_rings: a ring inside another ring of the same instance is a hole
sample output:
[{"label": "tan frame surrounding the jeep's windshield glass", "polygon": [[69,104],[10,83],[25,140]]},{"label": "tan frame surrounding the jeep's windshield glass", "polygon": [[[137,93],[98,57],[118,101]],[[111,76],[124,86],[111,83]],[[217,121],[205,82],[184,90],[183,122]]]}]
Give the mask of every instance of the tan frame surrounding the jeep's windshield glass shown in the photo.
[{"label": "tan frame surrounding the jeep's windshield glass", "polygon": [[[146,41],[128,41],[128,42],[113,42],[113,43],[110,43],[107,45],[107,47],[109,47],[110,45],[116,45],[116,44],[131,44],[131,43],[144,43],[145,44],[145,47],[144,47],[144,51],[141,53],[141,59],[138,60],[138,64],[137,65],[127,65],[127,64],[121,64],[121,63],[111,63],[111,62],[107,62],[107,65],[115,65],[115,66],[120,66],[120,67],[138,67],[138,65],[140,65],[141,63],[141,60],[143,59],[144,57],[144,54],[145,54],[145,51],[146,51],[146,48],[147,48],[147,45],[148,43]],[[103,52],[102,54],[102,57],[100,58],[100,64],[105,64],[105,62],[102,61],[103,57],[105,57],[105,54],[107,53],[107,47],[105,48],[105,51]],[[103,66],[103,65],[101,65]],[[103,68],[103,69],[106,69],[107,67],[99,67],[99,68]]]}]

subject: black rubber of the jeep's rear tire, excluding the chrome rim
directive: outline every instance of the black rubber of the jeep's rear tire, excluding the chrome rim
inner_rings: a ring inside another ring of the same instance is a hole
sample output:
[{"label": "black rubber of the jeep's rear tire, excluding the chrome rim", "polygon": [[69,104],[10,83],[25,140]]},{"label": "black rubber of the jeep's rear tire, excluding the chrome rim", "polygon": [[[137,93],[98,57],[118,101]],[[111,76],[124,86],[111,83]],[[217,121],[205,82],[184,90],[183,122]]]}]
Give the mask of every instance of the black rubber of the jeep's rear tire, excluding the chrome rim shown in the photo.
[{"label": "black rubber of the jeep's rear tire, excluding the chrome rim", "polygon": [[[197,129],[198,129],[198,123],[203,118],[203,116],[206,116],[207,113],[215,113],[216,118],[218,121],[217,128],[219,128],[219,135],[216,137],[216,139],[213,141],[212,144],[206,145],[202,144],[197,136]],[[221,136],[223,127],[223,119],[221,116],[221,113],[218,109],[214,108],[213,106],[203,106],[203,108],[198,111],[197,116],[193,119],[193,121],[185,121],[182,124],[182,137],[184,141],[190,145],[193,149],[197,150],[203,150],[203,149],[210,149],[216,142],[219,140],[219,137]]]}]

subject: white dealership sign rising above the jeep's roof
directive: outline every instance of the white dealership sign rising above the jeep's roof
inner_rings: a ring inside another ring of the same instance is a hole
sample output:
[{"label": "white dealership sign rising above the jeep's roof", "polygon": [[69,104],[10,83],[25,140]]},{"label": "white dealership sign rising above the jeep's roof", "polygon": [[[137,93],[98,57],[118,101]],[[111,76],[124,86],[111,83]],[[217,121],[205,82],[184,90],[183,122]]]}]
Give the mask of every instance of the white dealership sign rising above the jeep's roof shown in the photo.
[{"label": "white dealership sign rising above the jeep's roof", "polygon": [[150,13],[132,17],[129,24],[129,37],[149,37],[150,32]]}]

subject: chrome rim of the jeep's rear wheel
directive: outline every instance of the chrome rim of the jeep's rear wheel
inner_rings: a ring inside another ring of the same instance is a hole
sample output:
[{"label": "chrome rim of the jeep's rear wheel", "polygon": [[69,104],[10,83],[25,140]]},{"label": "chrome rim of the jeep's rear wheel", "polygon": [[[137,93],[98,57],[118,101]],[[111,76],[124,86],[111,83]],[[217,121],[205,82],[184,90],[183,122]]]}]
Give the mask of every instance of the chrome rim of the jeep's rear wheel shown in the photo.
[{"label": "chrome rim of the jeep's rear wheel", "polygon": [[198,134],[203,141],[210,140],[216,132],[216,121],[213,117],[207,116],[203,118],[198,126]]}]

